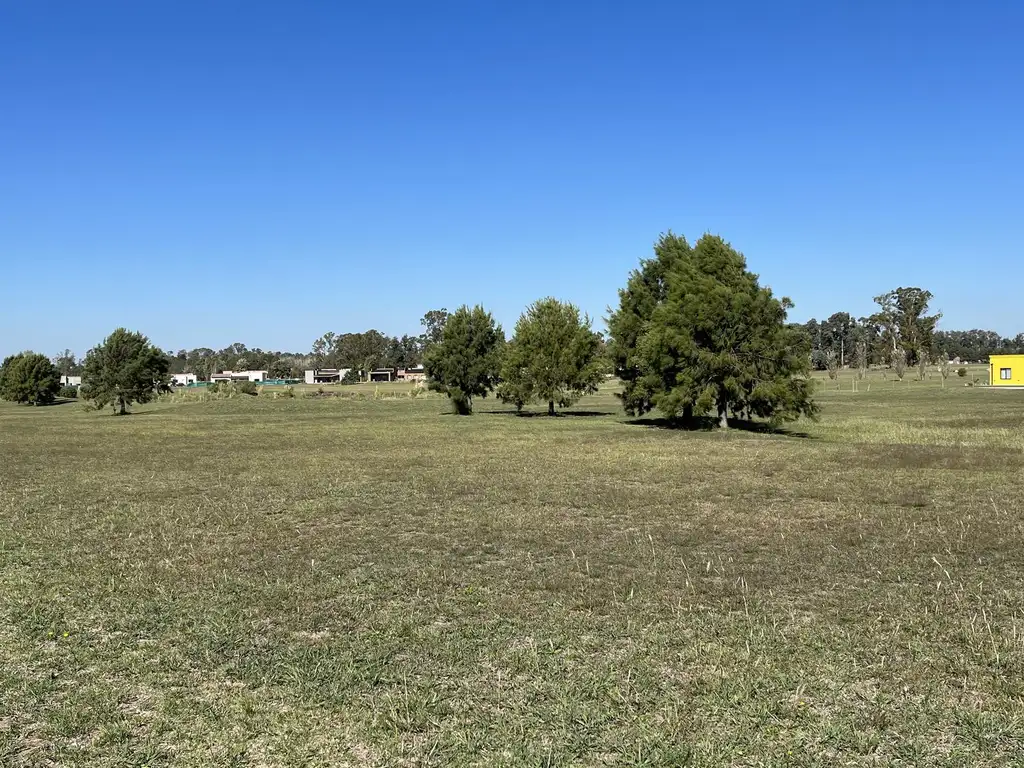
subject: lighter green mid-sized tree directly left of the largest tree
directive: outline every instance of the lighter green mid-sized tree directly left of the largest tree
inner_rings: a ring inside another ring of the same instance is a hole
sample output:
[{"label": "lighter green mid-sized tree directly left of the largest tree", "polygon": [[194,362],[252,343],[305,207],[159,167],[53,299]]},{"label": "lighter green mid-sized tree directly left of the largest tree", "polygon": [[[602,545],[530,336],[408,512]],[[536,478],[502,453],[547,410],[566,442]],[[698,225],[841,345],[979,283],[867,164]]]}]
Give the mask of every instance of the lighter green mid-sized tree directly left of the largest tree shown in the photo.
[{"label": "lighter green mid-sized tree directly left of the largest tree", "polygon": [[600,346],[601,337],[579,308],[541,299],[516,323],[515,338],[505,348],[498,396],[518,410],[535,400],[547,402],[553,415],[556,404],[565,408],[597,391],[604,378]]}]

